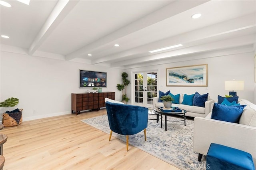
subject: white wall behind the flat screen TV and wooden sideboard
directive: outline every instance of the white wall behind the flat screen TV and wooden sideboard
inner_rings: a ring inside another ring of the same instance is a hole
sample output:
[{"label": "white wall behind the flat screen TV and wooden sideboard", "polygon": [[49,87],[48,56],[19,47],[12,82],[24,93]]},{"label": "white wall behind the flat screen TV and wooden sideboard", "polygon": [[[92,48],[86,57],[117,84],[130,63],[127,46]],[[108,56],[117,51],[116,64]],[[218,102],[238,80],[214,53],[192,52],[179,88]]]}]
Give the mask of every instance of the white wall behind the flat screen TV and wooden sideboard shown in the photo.
[{"label": "white wall behind the flat screen TV and wooden sideboard", "polygon": [[[20,103],[17,107],[24,109],[24,121],[70,114],[71,93],[88,90],[78,88],[79,69],[107,72],[107,88],[102,91],[115,91],[116,100],[122,99],[120,91],[116,88],[116,84],[122,82],[122,69],[5,51],[1,51],[0,56],[0,98],[18,98]],[[1,113],[17,107],[1,108]],[[36,113],[33,113],[33,110]]]}]

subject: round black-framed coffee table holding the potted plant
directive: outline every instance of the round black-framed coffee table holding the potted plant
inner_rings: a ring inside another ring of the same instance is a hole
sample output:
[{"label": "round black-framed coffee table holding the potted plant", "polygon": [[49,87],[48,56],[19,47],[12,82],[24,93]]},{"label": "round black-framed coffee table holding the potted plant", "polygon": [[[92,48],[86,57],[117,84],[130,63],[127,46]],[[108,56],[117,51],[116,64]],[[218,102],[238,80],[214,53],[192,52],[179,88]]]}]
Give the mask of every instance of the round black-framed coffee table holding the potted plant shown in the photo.
[{"label": "round black-framed coffee table holding the potted plant", "polygon": [[[182,117],[183,119],[180,120],[180,121],[184,121],[184,126],[186,126],[186,117],[185,117],[185,114],[187,113],[186,110],[184,109],[180,109],[181,111],[177,112],[177,111],[162,111],[162,108],[161,107],[158,107],[158,108],[155,108],[154,111],[156,113],[159,113],[161,115],[164,115],[165,116],[165,130],[167,131],[167,116],[173,116],[173,115],[177,115],[177,116],[180,116]],[[180,122],[180,121],[168,121],[168,122]]]}]

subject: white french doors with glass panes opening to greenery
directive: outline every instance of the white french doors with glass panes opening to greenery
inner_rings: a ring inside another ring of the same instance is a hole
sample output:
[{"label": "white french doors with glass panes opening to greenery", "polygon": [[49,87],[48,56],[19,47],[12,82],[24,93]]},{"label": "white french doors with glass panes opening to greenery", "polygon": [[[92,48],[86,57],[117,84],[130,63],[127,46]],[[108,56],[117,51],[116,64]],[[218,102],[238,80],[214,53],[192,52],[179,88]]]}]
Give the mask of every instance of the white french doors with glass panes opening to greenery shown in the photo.
[{"label": "white french doors with glass panes opening to greenery", "polygon": [[157,72],[134,73],[134,105],[152,107],[157,96]]}]

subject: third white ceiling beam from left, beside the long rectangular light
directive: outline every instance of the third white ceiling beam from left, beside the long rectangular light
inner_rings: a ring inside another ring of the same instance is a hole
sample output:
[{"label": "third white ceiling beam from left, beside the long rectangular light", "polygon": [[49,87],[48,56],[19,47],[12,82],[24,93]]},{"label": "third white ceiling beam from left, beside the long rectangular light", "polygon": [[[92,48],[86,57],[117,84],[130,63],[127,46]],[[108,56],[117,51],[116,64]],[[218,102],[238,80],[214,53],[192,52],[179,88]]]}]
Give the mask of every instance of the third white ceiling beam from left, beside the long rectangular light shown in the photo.
[{"label": "third white ceiling beam from left, beside the long rectangular light", "polygon": [[[235,18],[233,20],[224,21],[217,23],[215,25],[207,26],[198,30],[180,34],[177,36],[172,36],[164,40],[159,40],[157,42],[148,43],[140,47],[129,49],[120,53],[115,53],[106,57],[101,57],[92,60],[92,64],[97,64],[101,62],[116,61],[117,59],[122,60],[123,58],[129,58],[129,56],[134,56],[134,58],[141,57],[143,55],[152,55],[148,53],[152,47],[154,49],[162,48],[168,45],[174,45],[182,43],[184,47],[203,44],[205,40],[209,39],[219,39],[220,36],[225,35],[226,38],[232,34],[238,34],[244,32],[244,34],[250,33],[250,31],[256,30],[255,14],[250,14],[240,18]],[[216,41],[216,40],[215,40]],[[183,48],[183,47],[180,47]],[[180,49],[177,48],[177,49]],[[145,53],[146,51],[146,53]],[[162,53],[162,52],[158,52]]]}]

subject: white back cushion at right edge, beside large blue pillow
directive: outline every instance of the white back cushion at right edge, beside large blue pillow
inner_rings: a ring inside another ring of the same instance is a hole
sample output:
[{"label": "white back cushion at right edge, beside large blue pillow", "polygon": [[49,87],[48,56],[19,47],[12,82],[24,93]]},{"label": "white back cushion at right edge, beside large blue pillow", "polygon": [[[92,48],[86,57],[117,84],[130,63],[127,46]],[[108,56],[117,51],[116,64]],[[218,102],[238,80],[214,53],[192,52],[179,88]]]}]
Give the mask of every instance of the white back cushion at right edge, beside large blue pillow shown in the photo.
[{"label": "white back cushion at right edge, beside large blue pillow", "polygon": [[247,105],[240,117],[239,124],[256,127],[256,105],[244,99],[238,103]]}]

